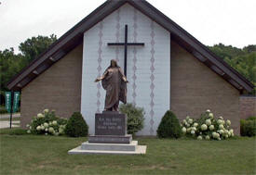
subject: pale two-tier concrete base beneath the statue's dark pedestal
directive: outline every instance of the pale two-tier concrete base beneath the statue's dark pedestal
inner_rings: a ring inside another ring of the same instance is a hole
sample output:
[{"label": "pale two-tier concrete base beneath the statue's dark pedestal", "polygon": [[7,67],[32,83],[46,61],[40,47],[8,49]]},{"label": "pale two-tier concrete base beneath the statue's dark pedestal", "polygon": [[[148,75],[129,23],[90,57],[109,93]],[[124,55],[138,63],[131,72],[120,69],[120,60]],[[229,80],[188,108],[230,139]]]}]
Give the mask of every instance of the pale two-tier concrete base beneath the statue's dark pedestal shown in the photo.
[{"label": "pale two-tier concrete base beneath the statue's dark pedestal", "polygon": [[70,150],[68,154],[144,155],[146,148],[146,145],[138,145],[138,141],[132,141],[130,144],[91,144],[86,142]]}]

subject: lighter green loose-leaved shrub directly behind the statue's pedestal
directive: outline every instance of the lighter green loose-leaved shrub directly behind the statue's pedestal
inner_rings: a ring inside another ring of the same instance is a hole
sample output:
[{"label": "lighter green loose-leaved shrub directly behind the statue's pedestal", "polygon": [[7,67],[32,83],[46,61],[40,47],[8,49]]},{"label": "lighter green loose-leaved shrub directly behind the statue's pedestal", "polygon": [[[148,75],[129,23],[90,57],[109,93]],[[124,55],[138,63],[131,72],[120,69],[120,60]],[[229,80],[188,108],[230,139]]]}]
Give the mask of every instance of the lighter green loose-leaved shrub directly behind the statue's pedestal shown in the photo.
[{"label": "lighter green loose-leaved shrub directly behind the statue's pedestal", "polygon": [[132,104],[126,104],[120,106],[120,111],[128,116],[128,133],[135,134],[137,131],[141,131],[144,124],[144,109],[136,107]]}]

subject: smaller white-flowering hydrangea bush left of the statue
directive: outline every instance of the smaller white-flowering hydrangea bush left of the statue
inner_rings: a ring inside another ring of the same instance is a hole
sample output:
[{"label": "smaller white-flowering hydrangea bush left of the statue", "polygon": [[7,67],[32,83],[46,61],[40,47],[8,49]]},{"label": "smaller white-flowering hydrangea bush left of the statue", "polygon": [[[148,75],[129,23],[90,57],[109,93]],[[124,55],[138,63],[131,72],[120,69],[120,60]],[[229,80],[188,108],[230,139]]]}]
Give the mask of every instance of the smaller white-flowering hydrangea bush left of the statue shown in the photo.
[{"label": "smaller white-flowering hydrangea bush left of the statue", "polygon": [[45,109],[43,113],[38,113],[36,117],[27,125],[27,133],[45,134],[45,135],[62,135],[64,134],[67,119],[59,118],[55,111]]}]

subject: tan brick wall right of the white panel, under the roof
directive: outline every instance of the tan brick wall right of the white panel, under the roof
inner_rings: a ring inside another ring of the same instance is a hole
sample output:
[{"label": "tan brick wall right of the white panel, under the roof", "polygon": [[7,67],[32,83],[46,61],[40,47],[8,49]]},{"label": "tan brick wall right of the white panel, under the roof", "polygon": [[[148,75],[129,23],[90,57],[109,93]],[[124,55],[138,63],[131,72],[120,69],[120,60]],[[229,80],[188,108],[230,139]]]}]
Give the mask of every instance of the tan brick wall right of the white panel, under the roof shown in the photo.
[{"label": "tan brick wall right of the white panel, under the roof", "polygon": [[239,92],[180,45],[171,44],[171,110],[179,119],[198,118],[210,109],[215,117],[230,119],[240,131]]}]

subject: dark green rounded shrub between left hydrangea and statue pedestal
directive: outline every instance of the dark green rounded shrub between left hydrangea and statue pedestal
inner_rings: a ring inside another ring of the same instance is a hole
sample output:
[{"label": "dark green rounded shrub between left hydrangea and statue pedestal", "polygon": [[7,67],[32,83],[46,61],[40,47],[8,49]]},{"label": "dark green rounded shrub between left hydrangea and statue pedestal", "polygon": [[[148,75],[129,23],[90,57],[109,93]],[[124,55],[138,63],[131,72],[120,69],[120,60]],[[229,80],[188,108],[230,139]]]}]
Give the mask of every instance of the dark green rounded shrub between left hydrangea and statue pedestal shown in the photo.
[{"label": "dark green rounded shrub between left hydrangea and statue pedestal", "polygon": [[74,112],[68,120],[65,133],[71,137],[88,136],[88,124],[79,112]]}]

